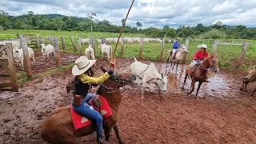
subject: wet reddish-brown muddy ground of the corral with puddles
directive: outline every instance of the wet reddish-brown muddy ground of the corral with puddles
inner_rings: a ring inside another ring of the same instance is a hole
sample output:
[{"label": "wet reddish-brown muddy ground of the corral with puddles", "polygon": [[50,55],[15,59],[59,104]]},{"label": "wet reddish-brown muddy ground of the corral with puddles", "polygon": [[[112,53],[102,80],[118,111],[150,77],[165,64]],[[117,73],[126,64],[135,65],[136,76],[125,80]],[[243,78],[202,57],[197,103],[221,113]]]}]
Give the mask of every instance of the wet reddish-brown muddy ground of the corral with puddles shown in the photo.
[{"label": "wet reddish-brown muddy ground of the corral with puddles", "polygon": [[[40,57],[40,56],[39,56]],[[41,57],[40,57],[41,58]],[[64,55],[66,62],[74,62],[74,54]],[[70,59],[71,60],[70,60]],[[50,64],[38,61],[34,71],[50,70]],[[127,70],[134,62],[117,58],[118,71]],[[142,60],[141,62],[150,63]],[[99,66],[107,67],[106,59],[98,59],[94,66],[96,75],[102,74]],[[165,64],[154,62],[158,70],[165,71]],[[184,68],[171,71],[168,90],[161,100],[156,91],[146,92],[141,100],[138,86],[128,86],[122,93],[118,128],[125,143],[256,143],[256,95],[250,96],[255,83],[248,91],[240,91],[244,72],[220,70],[202,85],[199,96],[187,95],[180,90],[184,80]],[[0,142],[1,143],[46,143],[40,135],[40,126],[50,111],[58,106],[70,105],[66,83],[72,79],[71,69],[44,78],[37,78],[19,85],[19,92],[0,94]],[[197,85],[196,85],[197,86]],[[78,138],[77,143],[96,143],[96,134]],[[114,131],[110,143],[117,143]]]}]

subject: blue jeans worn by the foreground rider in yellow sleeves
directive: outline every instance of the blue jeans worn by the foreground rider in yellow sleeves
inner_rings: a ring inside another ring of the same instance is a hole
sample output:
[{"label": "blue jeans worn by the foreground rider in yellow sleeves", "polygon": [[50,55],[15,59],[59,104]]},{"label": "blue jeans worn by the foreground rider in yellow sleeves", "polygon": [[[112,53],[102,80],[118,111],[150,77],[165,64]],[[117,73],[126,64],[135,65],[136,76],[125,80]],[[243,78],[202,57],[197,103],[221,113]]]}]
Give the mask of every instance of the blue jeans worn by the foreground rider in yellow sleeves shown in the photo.
[{"label": "blue jeans worn by the foreground rider in yellow sleeves", "polygon": [[87,101],[90,100],[90,98],[94,98],[96,94],[90,94],[88,93],[86,95],[86,98],[82,100],[82,104],[80,106],[74,106],[74,99],[72,98],[72,107],[74,111],[83,117],[93,119],[96,124],[96,130],[97,130],[97,139],[102,137],[102,115],[98,113],[98,111],[94,110],[90,105],[88,105]]}]

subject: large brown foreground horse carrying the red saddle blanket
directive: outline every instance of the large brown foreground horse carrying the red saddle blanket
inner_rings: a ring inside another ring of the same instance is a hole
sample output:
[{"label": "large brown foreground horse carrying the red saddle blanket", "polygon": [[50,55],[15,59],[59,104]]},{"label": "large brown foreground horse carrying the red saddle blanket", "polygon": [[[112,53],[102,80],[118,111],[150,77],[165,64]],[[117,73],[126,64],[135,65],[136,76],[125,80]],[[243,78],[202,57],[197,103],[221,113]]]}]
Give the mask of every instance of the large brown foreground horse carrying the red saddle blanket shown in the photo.
[{"label": "large brown foreground horse carrying the red saddle blanket", "polygon": [[[105,73],[106,70],[101,67]],[[123,76],[126,75],[126,79]],[[110,138],[110,130],[114,129],[118,143],[123,143],[118,133],[118,111],[122,99],[120,87],[130,83],[130,74],[123,74],[121,77],[107,79],[98,89],[98,94],[101,94],[110,105],[112,116],[103,118],[103,129],[105,132],[106,141]],[[42,123],[41,134],[46,142],[50,143],[74,143],[75,137],[82,137],[94,133],[95,126],[90,125],[78,130],[74,130],[70,106],[63,106],[54,109],[50,115]]]}]

